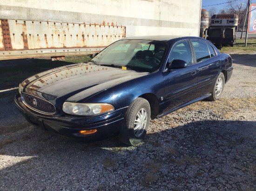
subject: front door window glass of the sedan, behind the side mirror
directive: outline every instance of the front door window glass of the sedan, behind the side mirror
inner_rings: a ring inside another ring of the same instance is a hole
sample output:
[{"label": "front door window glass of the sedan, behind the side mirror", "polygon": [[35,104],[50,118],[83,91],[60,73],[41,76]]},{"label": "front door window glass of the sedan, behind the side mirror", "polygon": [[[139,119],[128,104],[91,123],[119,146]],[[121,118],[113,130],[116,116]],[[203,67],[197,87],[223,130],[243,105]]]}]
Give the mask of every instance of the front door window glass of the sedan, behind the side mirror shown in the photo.
[{"label": "front door window glass of the sedan, behind the side mirror", "polygon": [[173,60],[184,60],[188,65],[192,64],[192,56],[189,47],[189,42],[187,40],[183,40],[177,42],[168,57],[168,63],[171,63]]}]

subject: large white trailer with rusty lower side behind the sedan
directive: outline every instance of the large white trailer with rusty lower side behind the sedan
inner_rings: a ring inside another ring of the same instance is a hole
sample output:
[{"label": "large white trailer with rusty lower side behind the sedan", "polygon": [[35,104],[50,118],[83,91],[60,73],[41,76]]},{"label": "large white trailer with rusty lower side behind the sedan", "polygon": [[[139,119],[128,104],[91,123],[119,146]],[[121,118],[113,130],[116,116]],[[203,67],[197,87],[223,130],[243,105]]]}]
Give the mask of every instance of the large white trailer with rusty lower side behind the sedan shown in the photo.
[{"label": "large white trailer with rusty lower side behind the sedan", "polygon": [[0,60],[94,54],[129,36],[199,36],[202,0],[0,1]]}]

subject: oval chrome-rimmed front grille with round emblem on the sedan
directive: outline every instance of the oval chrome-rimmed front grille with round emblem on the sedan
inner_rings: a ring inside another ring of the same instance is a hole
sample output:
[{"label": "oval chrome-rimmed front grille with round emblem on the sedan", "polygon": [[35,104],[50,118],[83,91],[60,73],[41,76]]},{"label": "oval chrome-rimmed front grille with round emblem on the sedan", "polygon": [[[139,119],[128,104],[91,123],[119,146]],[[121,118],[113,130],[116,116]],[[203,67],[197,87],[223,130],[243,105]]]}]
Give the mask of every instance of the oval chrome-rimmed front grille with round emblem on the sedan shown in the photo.
[{"label": "oval chrome-rimmed front grille with round emblem on the sedan", "polygon": [[53,115],[56,112],[54,104],[40,97],[23,92],[21,93],[21,100],[28,108],[31,108],[39,113]]}]

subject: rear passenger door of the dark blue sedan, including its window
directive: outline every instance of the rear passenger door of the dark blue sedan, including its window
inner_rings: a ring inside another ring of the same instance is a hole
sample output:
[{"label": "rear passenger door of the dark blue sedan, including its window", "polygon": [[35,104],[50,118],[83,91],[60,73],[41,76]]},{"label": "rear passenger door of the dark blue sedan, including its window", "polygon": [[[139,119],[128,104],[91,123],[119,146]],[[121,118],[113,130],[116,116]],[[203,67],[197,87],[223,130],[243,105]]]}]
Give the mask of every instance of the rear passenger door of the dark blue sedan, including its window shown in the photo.
[{"label": "rear passenger door of the dark blue sedan, including its window", "polygon": [[196,97],[211,93],[221,68],[220,58],[214,48],[204,40],[191,39],[197,65]]}]

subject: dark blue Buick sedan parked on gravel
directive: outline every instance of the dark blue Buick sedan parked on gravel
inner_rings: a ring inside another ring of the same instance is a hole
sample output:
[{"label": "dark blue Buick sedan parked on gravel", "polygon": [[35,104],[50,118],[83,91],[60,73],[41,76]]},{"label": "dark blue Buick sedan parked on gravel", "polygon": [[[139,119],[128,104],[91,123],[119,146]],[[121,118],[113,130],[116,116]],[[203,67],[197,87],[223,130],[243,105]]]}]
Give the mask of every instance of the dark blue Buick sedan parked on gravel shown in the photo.
[{"label": "dark blue Buick sedan parked on gravel", "polygon": [[74,140],[145,137],[150,119],[222,96],[232,59],[198,37],[123,38],[87,63],[31,76],[16,106],[27,121]]}]

